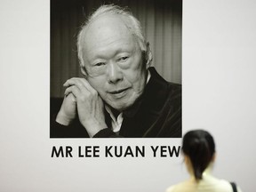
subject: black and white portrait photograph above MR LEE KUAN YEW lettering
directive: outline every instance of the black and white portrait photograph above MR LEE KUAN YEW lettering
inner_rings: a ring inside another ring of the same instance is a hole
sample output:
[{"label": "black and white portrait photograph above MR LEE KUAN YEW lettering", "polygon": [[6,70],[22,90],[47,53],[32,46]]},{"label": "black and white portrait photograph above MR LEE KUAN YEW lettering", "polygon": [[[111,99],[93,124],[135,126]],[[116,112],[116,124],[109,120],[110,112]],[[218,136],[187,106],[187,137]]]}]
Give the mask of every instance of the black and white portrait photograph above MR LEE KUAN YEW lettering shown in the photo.
[{"label": "black and white portrait photograph above MR LEE KUAN YEW lettering", "polygon": [[181,137],[182,1],[51,0],[51,137]]}]

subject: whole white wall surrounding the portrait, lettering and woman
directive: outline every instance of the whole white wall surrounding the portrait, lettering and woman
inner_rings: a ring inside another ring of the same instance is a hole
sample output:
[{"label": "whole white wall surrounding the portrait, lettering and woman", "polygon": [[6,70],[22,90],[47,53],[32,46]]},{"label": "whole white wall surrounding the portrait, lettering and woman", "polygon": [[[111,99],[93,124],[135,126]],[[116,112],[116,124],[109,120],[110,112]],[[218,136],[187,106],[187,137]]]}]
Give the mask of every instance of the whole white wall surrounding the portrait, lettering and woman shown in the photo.
[{"label": "whole white wall surrounding the portrait, lettering and woman", "polygon": [[[256,3],[183,5],[184,132],[212,132],[214,173],[253,191]],[[54,145],[149,148],[178,146],[180,140],[50,140],[49,17],[47,1],[0,3],[0,190],[155,192],[187,178],[181,158],[154,158],[149,150],[144,158],[51,158]]]}]

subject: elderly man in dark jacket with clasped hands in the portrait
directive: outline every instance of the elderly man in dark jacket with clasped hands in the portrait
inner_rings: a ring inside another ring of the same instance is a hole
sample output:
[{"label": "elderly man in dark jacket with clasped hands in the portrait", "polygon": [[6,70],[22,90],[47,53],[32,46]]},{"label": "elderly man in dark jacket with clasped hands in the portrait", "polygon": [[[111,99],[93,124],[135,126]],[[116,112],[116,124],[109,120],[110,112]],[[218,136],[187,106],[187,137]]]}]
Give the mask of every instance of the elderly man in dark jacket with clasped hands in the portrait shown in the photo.
[{"label": "elderly man in dark jacket with clasped hands in the portrait", "polygon": [[64,84],[51,138],[179,138],[181,85],[150,67],[139,20],[116,5],[92,13],[77,37],[84,75]]}]

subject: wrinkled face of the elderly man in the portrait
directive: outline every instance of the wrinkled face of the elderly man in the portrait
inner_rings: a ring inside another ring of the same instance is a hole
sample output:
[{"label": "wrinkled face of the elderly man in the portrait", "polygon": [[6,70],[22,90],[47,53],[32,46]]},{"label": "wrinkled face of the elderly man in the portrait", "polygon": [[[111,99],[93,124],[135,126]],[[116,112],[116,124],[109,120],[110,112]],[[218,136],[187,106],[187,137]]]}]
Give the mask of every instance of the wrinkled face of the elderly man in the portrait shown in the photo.
[{"label": "wrinkled face of the elderly man in the portrait", "polygon": [[104,16],[92,21],[84,35],[87,81],[110,107],[129,108],[144,90],[147,66],[124,20]]}]

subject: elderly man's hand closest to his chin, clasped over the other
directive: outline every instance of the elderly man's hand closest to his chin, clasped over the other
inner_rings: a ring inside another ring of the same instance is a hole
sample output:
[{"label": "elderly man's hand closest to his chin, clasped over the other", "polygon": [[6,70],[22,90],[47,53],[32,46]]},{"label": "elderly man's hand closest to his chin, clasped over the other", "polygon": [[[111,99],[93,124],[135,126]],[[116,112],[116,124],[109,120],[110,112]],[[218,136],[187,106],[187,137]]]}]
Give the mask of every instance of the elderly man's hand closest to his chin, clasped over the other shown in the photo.
[{"label": "elderly man's hand closest to his chin, clasped over the other", "polygon": [[[86,79],[71,78],[63,85],[68,87],[65,91],[67,98],[70,94],[74,95],[79,120],[90,137],[100,132],[100,130],[107,128],[103,101],[99,93],[92,88]],[[74,110],[73,106],[70,110]]]}]

